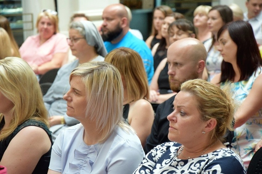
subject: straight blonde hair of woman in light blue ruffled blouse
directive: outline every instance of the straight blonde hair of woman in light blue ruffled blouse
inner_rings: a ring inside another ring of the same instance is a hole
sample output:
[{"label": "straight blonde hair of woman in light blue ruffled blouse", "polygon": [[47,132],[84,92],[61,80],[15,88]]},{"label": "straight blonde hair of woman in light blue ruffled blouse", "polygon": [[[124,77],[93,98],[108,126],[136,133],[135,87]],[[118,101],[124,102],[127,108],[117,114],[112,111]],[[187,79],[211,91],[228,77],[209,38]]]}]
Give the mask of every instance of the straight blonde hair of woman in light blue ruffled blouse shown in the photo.
[{"label": "straight blonde hair of woman in light blue ruffled blouse", "polygon": [[86,117],[96,122],[101,131],[100,143],[105,142],[118,125],[127,132],[132,128],[123,119],[123,85],[117,68],[107,62],[87,62],[70,74],[80,76],[85,85]]}]

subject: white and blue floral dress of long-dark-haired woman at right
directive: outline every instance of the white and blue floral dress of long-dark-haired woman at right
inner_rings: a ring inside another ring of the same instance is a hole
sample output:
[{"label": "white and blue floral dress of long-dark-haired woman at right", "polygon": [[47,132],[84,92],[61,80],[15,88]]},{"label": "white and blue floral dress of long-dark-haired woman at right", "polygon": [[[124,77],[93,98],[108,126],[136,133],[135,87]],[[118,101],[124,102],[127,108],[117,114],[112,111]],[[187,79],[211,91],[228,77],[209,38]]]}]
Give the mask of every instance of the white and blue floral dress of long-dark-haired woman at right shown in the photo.
[{"label": "white and blue floral dress of long-dark-haired woman at right", "polygon": [[[260,74],[262,74],[262,67],[259,67],[247,80],[231,83],[236,97],[235,99],[239,102],[239,105],[243,103],[249,94],[254,81]],[[221,83],[221,87],[225,84],[226,83]],[[246,168],[248,168],[249,162],[254,155],[256,144],[261,140],[261,138],[262,108],[260,108],[255,115],[250,117],[245,124],[235,129],[235,135],[232,139],[233,150],[239,153]]]}]

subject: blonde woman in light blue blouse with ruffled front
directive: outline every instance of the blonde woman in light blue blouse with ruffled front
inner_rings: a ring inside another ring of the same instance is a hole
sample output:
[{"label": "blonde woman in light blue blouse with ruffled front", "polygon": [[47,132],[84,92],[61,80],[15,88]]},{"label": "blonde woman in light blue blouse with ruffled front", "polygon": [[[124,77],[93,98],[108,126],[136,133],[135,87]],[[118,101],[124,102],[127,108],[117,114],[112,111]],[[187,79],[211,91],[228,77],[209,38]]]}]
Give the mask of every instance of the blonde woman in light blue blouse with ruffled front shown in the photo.
[{"label": "blonde woman in light blue blouse with ruffled front", "polygon": [[122,117],[123,85],[117,68],[107,62],[83,63],[69,81],[66,114],[80,124],[56,138],[48,173],[133,173],[144,151]]}]

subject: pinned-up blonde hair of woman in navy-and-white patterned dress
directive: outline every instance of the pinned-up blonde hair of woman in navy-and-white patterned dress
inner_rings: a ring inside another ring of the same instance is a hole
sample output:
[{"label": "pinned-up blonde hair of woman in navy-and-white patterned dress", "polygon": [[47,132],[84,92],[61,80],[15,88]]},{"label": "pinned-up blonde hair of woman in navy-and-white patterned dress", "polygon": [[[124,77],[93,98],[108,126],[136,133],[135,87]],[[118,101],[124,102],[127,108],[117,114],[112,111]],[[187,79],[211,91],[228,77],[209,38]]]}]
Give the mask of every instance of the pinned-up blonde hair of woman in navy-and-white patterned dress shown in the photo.
[{"label": "pinned-up blonde hair of woman in navy-and-white patterned dress", "polygon": [[216,119],[211,139],[224,141],[223,136],[227,129],[234,130],[235,101],[229,85],[223,89],[202,79],[188,80],[181,85],[181,91],[188,92],[196,97],[198,111],[203,121]]}]

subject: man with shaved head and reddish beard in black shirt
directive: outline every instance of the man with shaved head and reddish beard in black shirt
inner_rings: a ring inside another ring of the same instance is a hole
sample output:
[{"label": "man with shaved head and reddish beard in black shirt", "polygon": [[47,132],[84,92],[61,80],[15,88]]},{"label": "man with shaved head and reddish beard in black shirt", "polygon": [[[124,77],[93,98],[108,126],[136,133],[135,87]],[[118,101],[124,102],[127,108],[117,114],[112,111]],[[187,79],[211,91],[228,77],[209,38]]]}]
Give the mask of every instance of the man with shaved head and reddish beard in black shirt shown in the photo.
[{"label": "man with shaved head and reddish beard in black shirt", "polygon": [[[201,78],[207,52],[199,40],[185,38],[171,44],[167,50],[169,85],[174,92],[179,92],[180,85],[189,80]],[[173,112],[172,96],[157,107],[156,116],[153,122],[151,134],[146,140],[145,153],[168,139],[169,121],[167,116]]]}]

